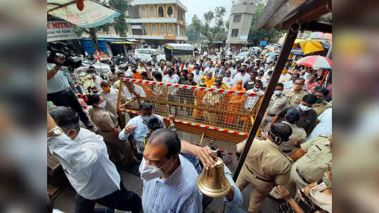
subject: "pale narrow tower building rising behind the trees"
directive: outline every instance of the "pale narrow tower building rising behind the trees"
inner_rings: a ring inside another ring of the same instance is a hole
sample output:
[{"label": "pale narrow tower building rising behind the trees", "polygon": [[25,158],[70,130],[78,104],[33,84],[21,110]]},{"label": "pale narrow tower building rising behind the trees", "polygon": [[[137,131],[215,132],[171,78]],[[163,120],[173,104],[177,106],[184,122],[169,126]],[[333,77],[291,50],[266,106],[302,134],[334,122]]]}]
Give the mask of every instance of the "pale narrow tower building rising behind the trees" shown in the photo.
[{"label": "pale narrow tower building rising behind the trees", "polygon": [[229,32],[226,39],[226,48],[240,48],[248,44],[248,35],[255,13],[255,1],[237,0],[231,6],[231,16],[229,18]]}]

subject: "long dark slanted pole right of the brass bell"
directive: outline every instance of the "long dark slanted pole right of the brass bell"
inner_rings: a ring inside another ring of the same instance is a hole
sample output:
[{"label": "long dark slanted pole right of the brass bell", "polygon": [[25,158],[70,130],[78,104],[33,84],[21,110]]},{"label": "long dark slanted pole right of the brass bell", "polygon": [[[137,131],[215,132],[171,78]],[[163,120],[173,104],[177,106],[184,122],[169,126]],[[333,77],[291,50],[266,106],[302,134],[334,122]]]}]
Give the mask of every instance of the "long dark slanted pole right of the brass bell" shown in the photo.
[{"label": "long dark slanted pole right of the brass bell", "polygon": [[259,129],[259,125],[262,122],[264,113],[266,112],[267,107],[269,107],[271,96],[273,95],[274,90],[276,88],[276,84],[279,81],[285,62],[287,62],[288,60],[288,55],[290,55],[290,51],[292,50],[293,43],[295,43],[295,39],[297,37],[297,32],[298,32],[296,29],[298,27],[299,27],[298,25],[296,26],[296,24],[294,24],[288,29],[288,33],[287,33],[287,36],[285,37],[283,48],[281,50],[281,55],[279,55],[278,62],[276,62],[274,73],[271,76],[271,81],[267,87],[266,92],[264,93],[261,107],[259,107],[257,116],[255,117],[255,121],[252,124],[248,141],[246,142],[245,149],[243,149],[243,152],[240,156],[240,161],[238,162],[236,172],[234,172],[234,176],[233,176],[234,181],[237,180],[238,174],[240,174],[240,170],[243,164],[245,163],[246,157],[248,156],[250,147],[252,145],[252,141],[255,138],[257,130]]}]

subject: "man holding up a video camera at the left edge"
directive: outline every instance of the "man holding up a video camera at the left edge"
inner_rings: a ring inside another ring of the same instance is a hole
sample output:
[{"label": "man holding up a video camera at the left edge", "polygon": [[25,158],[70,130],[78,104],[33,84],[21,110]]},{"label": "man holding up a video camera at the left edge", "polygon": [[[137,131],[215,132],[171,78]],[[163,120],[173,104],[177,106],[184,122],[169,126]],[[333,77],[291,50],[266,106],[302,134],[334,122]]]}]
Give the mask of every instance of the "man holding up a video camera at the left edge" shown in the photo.
[{"label": "man holding up a video camera at the left edge", "polygon": [[70,62],[72,62],[72,60],[66,60],[63,54],[51,53],[51,55],[49,55],[47,64],[47,100],[53,102],[56,106],[65,106],[74,109],[77,114],[79,114],[79,118],[86,128],[94,128],[94,124],[89,121],[77,97],[70,88],[68,79],[63,71],[60,70],[63,66],[67,67]]}]

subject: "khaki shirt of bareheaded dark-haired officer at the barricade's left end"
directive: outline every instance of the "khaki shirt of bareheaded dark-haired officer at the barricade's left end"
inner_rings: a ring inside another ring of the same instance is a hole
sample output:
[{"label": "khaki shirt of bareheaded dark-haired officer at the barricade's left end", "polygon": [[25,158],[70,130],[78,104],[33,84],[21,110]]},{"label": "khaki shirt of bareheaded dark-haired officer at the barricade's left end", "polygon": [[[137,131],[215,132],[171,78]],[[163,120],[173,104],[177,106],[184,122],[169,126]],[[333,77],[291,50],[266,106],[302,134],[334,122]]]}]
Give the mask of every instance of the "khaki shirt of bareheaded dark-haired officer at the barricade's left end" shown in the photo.
[{"label": "khaki shirt of bareheaded dark-haired officer at the barricade's left end", "polygon": [[105,132],[109,132],[118,124],[116,116],[100,107],[91,107],[89,109],[89,116],[91,116],[94,124]]}]

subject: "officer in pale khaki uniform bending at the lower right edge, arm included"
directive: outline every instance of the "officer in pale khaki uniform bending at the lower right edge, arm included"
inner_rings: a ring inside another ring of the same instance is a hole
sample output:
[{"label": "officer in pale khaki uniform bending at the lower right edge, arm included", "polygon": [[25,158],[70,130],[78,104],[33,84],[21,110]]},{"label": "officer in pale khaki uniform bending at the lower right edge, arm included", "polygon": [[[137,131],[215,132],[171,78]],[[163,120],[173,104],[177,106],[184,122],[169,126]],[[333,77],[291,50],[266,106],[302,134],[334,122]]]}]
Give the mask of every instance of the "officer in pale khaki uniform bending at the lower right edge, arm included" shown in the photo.
[{"label": "officer in pale khaki uniform bending at the lower right edge, arm included", "polygon": [[292,195],[304,186],[319,181],[323,172],[332,168],[332,133],[329,137],[315,137],[297,149],[291,156],[297,160],[292,167],[288,190]]}]

